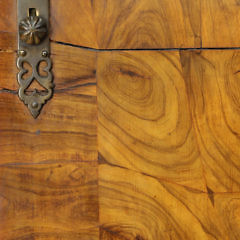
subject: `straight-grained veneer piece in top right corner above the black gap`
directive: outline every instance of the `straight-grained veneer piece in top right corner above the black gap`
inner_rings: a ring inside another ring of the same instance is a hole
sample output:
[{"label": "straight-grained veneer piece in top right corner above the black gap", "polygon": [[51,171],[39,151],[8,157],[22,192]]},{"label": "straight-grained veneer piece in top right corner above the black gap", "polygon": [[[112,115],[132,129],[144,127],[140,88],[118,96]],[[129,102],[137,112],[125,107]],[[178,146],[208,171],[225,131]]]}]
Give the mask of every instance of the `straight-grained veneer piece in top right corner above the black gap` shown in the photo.
[{"label": "straight-grained veneer piece in top right corner above the black gap", "polygon": [[240,2],[238,0],[203,0],[203,47],[240,47]]}]

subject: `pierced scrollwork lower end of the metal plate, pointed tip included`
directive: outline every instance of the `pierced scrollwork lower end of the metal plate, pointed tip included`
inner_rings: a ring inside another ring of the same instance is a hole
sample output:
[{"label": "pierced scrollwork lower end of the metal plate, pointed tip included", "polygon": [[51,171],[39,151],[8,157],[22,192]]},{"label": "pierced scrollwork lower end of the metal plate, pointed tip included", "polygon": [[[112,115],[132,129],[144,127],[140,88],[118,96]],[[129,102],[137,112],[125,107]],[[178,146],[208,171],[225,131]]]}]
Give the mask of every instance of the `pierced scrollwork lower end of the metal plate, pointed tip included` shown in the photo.
[{"label": "pierced scrollwork lower end of the metal plate, pointed tip included", "polygon": [[[47,76],[41,76],[39,73],[39,64],[41,62],[46,62],[47,67],[43,69],[47,73]],[[24,63],[28,63],[32,67],[32,75],[27,79],[24,79],[24,75],[28,70],[24,69]],[[19,56],[17,59],[17,66],[19,68],[18,73],[18,83],[20,85],[18,95],[19,98],[27,105],[29,111],[34,118],[37,118],[43,105],[52,97],[53,95],[53,76],[51,73],[52,62],[49,57],[40,57],[39,59],[31,59],[28,57]],[[33,83],[37,81],[46,91],[34,89],[27,94],[27,89]]]}]

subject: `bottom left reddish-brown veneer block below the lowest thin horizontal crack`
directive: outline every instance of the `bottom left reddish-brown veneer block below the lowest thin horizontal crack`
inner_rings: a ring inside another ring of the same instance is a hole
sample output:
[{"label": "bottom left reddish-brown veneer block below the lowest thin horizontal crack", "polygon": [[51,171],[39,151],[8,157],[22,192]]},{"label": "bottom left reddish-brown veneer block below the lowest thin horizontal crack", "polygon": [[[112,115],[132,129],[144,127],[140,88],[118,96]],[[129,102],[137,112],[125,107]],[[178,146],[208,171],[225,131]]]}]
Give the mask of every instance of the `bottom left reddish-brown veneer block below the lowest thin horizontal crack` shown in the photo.
[{"label": "bottom left reddish-brown veneer block below the lowest thin horizontal crack", "polygon": [[97,240],[96,163],[0,167],[0,239]]}]

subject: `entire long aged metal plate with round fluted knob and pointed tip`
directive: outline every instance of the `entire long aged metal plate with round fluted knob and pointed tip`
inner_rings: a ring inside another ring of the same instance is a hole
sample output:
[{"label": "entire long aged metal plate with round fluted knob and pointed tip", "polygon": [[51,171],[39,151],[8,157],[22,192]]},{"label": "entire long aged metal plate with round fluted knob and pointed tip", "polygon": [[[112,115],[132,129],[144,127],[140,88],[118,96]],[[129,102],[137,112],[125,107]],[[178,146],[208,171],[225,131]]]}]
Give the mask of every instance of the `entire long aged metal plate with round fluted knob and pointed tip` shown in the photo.
[{"label": "entire long aged metal plate with round fluted knob and pointed tip", "polygon": [[[18,0],[18,83],[19,98],[37,118],[53,95],[52,62],[49,44],[49,0]],[[46,67],[40,72],[40,64]],[[25,63],[31,66],[28,76]],[[36,81],[41,89],[31,89]]]}]

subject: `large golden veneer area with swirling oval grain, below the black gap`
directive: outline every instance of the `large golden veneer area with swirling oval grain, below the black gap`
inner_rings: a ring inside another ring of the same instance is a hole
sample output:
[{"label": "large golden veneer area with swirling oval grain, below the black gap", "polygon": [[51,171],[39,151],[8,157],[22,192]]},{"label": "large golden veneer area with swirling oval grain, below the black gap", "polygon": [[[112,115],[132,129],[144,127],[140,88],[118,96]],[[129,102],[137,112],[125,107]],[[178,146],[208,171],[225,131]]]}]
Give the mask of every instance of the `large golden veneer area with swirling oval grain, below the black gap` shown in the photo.
[{"label": "large golden veneer area with swirling oval grain, below the black gap", "polygon": [[98,56],[100,239],[239,239],[240,51]]}]

